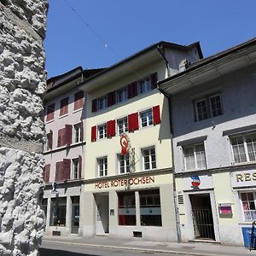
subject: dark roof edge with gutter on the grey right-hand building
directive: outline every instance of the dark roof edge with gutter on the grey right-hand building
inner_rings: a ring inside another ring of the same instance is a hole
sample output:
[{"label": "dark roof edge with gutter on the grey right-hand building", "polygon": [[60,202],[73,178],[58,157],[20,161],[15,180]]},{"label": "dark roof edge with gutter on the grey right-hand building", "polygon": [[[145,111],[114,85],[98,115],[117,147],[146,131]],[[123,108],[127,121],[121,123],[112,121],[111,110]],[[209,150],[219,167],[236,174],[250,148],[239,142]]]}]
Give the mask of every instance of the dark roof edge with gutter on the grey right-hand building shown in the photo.
[{"label": "dark roof edge with gutter on the grey right-hand building", "polygon": [[[225,49],[224,51],[218,52],[217,54],[211,55],[202,60],[195,61],[195,62],[191,63],[185,71],[183,71],[181,73],[177,73],[177,74],[173,75],[172,77],[169,77],[167,79],[164,79],[164,80],[158,82],[159,89],[164,91],[169,86],[169,90],[170,90],[171,82],[175,81],[177,83],[177,79],[186,78],[189,74],[192,75],[193,73],[199,71],[203,67],[207,67],[208,65],[214,65],[215,63],[220,62],[220,61],[223,61],[223,62],[230,61],[231,55],[240,53],[241,51],[244,51],[251,46],[256,46],[256,38],[252,38],[242,44],[238,44],[234,47],[231,47],[230,49]],[[230,59],[228,59],[229,57],[230,57]],[[170,83],[168,83],[168,82],[170,82]]]}]

